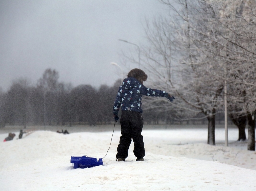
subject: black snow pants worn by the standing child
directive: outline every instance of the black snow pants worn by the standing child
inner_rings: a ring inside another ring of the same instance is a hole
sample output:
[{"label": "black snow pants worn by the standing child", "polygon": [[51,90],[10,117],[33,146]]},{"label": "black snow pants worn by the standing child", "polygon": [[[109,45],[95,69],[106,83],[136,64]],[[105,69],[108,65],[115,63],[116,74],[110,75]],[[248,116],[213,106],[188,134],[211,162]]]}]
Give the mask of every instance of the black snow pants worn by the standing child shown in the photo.
[{"label": "black snow pants worn by the standing child", "polygon": [[122,111],[121,137],[117,147],[116,158],[127,158],[128,149],[133,140],[133,153],[136,157],[145,156],[145,148],[141,131],[143,128],[142,114],[135,111]]}]

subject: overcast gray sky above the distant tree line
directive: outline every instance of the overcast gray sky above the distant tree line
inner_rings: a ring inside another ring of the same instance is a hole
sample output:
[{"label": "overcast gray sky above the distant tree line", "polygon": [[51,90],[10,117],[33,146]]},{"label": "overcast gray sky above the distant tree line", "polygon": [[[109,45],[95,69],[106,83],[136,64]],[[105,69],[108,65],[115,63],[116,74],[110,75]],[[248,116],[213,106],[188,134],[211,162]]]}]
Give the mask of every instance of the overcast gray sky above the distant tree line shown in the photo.
[{"label": "overcast gray sky above the distant tree line", "polygon": [[73,86],[113,85],[121,50],[143,44],[146,18],[161,14],[157,0],[1,0],[0,87],[27,78],[35,85],[47,68]]}]

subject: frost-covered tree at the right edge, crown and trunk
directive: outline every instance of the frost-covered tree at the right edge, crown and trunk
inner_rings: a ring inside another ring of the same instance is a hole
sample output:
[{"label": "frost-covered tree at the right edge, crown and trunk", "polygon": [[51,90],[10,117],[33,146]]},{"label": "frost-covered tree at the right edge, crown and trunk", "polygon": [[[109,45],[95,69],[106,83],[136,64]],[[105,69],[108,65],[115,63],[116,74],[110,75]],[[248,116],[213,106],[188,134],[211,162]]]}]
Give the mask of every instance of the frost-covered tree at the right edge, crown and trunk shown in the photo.
[{"label": "frost-covered tree at the right edge, crown and trunk", "polygon": [[[230,117],[244,129],[248,120],[248,150],[255,150],[255,56],[256,2],[250,0],[211,1],[218,13],[219,38],[228,79]],[[245,135],[239,129],[239,136]],[[244,139],[245,137],[243,137]]]}]

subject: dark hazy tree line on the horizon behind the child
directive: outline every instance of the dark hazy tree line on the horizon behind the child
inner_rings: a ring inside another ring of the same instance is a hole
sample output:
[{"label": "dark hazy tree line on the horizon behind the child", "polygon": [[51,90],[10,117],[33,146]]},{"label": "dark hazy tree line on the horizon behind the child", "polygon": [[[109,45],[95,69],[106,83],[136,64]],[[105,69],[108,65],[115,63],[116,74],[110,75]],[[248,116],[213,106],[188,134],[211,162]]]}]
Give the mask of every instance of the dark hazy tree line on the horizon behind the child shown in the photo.
[{"label": "dark hazy tree line on the horizon behind the child", "polygon": [[[58,72],[48,68],[36,86],[29,85],[27,79],[21,78],[12,83],[8,92],[0,92],[0,127],[114,123],[113,104],[121,79],[111,87],[101,85],[95,89],[91,85],[72,87],[71,84],[58,82],[58,78]],[[165,111],[151,109],[143,112],[143,115],[147,124],[175,122],[171,114]]]}]

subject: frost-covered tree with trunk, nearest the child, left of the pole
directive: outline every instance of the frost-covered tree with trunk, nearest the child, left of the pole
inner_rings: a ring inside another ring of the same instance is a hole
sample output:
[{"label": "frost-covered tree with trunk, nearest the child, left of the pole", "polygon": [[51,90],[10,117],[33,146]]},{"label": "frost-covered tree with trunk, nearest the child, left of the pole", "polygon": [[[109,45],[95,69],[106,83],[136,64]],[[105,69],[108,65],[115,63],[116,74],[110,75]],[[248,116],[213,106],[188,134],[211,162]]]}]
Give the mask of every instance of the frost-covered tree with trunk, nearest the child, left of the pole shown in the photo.
[{"label": "frost-covered tree with trunk, nearest the child, left of the pole", "polygon": [[[220,68],[216,57],[219,47],[204,35],[215,32],[215,23],[208,26],[202,19],[214,18],[214,12],[200,0],[175,1],[177,6],[168,0],[161,2],[176,12],[176,16],[156,20],[151,28],[147,26],[150,46],[143,51],[144,68],[155,86],[174,92],[179,100],[174,104],[180,113],[190,118],[198,112],[205,114],[208,143],[214,145],[215,114],[224,81],[215,76],[219,75]],[[189,112],[191,110],[194,112]]]}]

